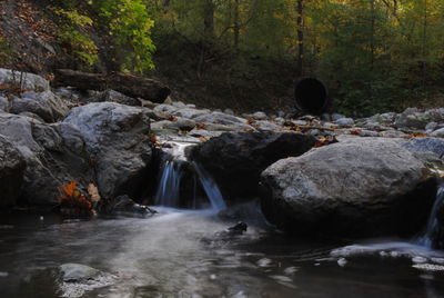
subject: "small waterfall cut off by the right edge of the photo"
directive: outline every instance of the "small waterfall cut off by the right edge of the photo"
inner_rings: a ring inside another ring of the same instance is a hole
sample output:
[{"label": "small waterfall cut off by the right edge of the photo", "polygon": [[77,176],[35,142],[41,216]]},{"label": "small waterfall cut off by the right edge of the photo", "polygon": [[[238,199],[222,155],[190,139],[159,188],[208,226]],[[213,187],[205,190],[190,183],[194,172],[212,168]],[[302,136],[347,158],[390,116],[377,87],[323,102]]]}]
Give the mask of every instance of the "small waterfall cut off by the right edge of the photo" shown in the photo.
[{"label": "small waterfall cut off by the right edge of the photo", "polygon": [[444,200],[444,185],[441,185],[438,187],[437,193],[436,193],[436,199],[432,208],[432,212],[428,217],[427,226],[424,231],[424,234],[416,239],[416,244],[424,246],[426,248],[433,248],[433,242],[434,239],[436,238],[436,234],[440,232],[440,220],[438,220],[438,213],[440,209],[443,206],[443,200]]}]

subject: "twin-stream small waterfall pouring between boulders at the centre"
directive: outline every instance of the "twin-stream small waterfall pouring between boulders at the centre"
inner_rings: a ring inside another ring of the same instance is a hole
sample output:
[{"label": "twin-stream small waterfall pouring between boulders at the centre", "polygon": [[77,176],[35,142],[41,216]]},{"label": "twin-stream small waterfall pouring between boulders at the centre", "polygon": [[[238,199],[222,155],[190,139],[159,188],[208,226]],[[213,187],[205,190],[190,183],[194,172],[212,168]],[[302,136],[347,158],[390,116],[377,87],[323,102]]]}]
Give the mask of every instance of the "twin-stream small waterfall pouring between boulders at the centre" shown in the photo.
[{"label": "twin-stream small waterfall pouring between boulders at the centre", "polygon": [[[171,148],[167,148],[165,152],[170,158],[163,162],[161,168],[159,187],[154,197],[155,205],[179,208],[184,205],[183,199],[189,199],[186,207],[198,208],[200,201],[196,190],[201,186],[211,205],[211,209],[215,211],[225,209],[226,205],[221,190],[210,173],[196,162],[188,161],[185,149],[193,145],[171,142],[169,146]],[[186,173],[193,177],[186,180]],[[198,181],[200,185],[198,185]],[[186,187],[192,189],[191,198],[181,198],[182,189]]]}]

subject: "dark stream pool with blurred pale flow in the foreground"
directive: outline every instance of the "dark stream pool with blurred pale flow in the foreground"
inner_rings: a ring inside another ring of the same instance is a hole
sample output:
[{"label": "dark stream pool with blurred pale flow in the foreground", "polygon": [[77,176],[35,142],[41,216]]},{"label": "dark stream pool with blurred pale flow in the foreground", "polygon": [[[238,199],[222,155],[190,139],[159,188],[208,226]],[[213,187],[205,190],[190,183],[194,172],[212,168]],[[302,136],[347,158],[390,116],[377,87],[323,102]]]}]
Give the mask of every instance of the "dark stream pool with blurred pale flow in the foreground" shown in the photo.
[{"label": "dark stream pool with blurred pale flow in the foreground", "polygon": [[50,269],[65,262],[118,276],[85,297],[444,296],[444,271],[415,268],[412,260],[433,262],[440,252],[402,244],[341,250],[344,244],[291,239],[252,222],[231,238],[216,232],[235,221],[210,211],[160,209],[149,219],[68,224],[1,218],[0,297],[57,297]]}]

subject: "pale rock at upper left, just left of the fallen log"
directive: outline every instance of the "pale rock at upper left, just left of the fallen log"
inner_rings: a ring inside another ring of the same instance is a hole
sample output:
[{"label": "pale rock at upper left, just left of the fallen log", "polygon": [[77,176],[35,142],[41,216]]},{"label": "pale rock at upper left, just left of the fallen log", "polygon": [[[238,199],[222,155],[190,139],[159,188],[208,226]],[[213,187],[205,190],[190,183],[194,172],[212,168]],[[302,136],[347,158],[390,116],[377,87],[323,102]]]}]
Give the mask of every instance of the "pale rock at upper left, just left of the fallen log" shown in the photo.
[{"label": "pale rock at upper left, just left of the fallen log", "polygon": [[11,101],[12,113],[32,112],[46,122],[56,122],[68,113],[67,105],[51,91],[24,92]]}]

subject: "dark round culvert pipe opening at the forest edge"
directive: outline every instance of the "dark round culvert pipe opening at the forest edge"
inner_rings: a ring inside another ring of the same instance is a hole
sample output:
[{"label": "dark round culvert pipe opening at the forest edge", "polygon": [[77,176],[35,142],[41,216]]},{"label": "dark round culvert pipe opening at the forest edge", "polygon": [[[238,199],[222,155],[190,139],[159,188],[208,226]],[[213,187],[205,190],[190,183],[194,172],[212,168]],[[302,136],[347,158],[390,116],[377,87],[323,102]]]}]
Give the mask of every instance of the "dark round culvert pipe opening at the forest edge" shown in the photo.
[{"label": "dark round culvert pipe opening at the forest edge", "polygon": [[322,113],[329,102],[326,87],[314,78],[300,79],[296,82],[294,96],[297,109],[307,113]]}]

